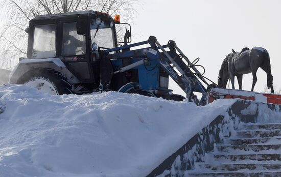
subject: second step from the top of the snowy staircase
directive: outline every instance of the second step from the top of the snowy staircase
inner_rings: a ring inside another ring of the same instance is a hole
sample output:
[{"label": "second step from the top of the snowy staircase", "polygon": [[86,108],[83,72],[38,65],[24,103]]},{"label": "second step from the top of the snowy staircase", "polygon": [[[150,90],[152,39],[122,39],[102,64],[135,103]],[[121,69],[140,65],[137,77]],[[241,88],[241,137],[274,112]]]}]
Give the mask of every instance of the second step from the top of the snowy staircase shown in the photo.
[{"label": "second step from the top of the snowy staircase", "polygon": [[264,138],[281,136],[281,130],[242,130],[236,132],[237,138]]}]

